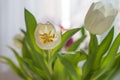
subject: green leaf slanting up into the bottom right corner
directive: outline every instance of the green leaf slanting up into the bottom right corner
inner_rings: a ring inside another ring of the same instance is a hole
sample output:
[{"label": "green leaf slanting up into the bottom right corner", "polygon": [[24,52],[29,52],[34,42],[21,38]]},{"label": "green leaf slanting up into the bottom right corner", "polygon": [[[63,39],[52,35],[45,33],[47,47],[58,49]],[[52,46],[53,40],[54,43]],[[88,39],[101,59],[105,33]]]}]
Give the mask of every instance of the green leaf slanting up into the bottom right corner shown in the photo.
[{"label": "green leaf slanting up into the bottom right corner", "polygon": [[106,65],[104,68],[96,70],[91,77],[91,80],[110,80],[114,78],[120,71],[120,54],[117,54],[112,59],[111,64]]}]

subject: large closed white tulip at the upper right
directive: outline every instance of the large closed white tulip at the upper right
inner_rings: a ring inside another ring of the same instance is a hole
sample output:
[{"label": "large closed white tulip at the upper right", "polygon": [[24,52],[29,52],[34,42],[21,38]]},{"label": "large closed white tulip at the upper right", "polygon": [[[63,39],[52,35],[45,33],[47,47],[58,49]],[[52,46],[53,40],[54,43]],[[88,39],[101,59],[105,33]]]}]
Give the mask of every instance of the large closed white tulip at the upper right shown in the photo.
[{"label": "large closed white tulip at the upper right", "polygon": [[92,34],[102,34],[111,27],[116,15],[112,4],[93,3],[85,17],[85,28]]}]

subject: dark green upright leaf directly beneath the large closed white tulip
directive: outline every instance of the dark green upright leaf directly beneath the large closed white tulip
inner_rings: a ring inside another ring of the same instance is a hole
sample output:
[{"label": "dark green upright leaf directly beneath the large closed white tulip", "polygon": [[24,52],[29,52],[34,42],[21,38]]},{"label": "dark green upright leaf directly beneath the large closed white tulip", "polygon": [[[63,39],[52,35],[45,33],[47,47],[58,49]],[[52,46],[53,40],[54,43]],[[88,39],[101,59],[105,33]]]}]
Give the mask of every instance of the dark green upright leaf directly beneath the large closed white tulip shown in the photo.
[{"label": "dark green upright leaf directly beneath the large closed white tulip", "polygon": [[97,36],[90,34],[90,42],[89,42],[89,51],[88,51],[88,58],[86,62],[83,65],[83,80],[86,80],[87,78],[89,79],[90,76],[92,75],[92,67],[93,67],[93,62],[95,59],[95,54],[98,48],[98,40]]}]

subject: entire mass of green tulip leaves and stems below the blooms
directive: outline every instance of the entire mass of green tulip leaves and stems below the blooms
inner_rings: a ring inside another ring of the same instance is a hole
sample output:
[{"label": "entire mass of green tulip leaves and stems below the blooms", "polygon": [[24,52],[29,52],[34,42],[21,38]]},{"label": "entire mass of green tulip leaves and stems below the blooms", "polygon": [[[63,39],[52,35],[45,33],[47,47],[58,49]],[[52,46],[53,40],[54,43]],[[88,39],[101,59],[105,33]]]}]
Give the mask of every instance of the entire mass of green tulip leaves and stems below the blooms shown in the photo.
[{"label": "entire mass of green tulip leaves and stems below the blooms", "polygon": [[[22,44],[22,55],[9,47],[18,62],[15,65],[11,59],[0,56],[22,78],[22,80],[113,80],[120,72],[120,34],[114,38],[114,28],[101,43],[96,35],[90,34],[88,52],[79,49],[85,40],[84,26],[66,31],[62,34],[61,42],[53,50],[40,49],[35,41],[34,32],[37,26],[35,17],[25,9],[26,31]],[[81,37],[68,47],[66,52],[62,48],[77,32]],[[78,64],[82,61],[83,66]]]}]

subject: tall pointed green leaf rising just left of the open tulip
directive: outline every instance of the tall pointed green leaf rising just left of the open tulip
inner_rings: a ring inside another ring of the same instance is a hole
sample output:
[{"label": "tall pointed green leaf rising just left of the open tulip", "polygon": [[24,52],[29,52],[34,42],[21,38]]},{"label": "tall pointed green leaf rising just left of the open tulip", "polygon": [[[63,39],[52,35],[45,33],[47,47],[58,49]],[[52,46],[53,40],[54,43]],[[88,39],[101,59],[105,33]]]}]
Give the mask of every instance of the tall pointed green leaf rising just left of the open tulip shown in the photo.
[{"label": "tall pointed green leaf rising just left of the open tulip", "polygon": [[43,50],[40,49],[35,42],[35,37],[34,37],[34,31],[37,26],[37,22],[35,20],[35,17],[25,9],[25,23],[26,23],[26,30],[27,30],[27,35],[29,38],[29,41],[31,41],[31,46],[34,46],[35,49],[40,53],[43,54]]}]

